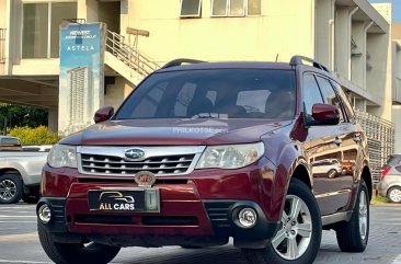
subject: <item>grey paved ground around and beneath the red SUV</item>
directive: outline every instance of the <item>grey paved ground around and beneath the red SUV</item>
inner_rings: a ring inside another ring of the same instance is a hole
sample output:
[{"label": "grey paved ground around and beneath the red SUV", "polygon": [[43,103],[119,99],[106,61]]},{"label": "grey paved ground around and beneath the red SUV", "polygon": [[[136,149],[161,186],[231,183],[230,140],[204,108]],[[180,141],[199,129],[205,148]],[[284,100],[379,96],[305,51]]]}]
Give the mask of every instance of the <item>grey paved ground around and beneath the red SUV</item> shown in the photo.
[{"label": "grey paved ground around and beneath the red SUV", "polygon": [[[38,242],[35,206],[0,205],[0,264],[51,263]],[[401,264],[401,206],[371,207],[370,237],[364,253],[340,251],[335,233],[324,231],[316,264],[364,263]],[[179,246],[162,249],[123,249],[113,263],[124,264],[247,264],[241,251],[230,245],[185,250]]]}]

